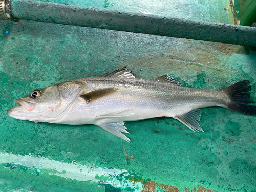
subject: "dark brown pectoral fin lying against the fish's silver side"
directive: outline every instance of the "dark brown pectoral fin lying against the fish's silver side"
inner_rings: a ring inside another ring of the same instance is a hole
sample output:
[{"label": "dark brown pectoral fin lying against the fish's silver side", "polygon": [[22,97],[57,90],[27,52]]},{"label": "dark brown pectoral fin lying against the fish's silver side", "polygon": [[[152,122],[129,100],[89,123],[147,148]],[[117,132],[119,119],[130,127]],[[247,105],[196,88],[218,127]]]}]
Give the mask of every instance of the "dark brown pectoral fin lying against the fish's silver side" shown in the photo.
[{"label": "dark brown pectoral fin lying against the fish's silver side", "polygon": [[115,92],[117,92],[117,89],[115,88],[104,88],[104,89],[99,89],[99,90],[95,90],[95,91],[91,91],[89,93],[83,94],[81,95],[81,97],[88,104],[102,97],[106,97],[108,95],[114,94]]}]

